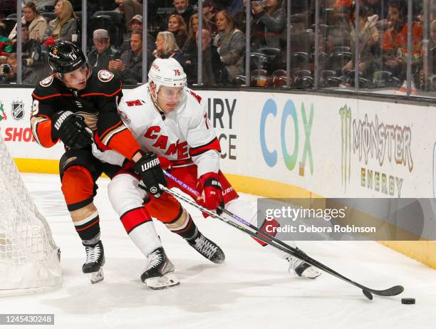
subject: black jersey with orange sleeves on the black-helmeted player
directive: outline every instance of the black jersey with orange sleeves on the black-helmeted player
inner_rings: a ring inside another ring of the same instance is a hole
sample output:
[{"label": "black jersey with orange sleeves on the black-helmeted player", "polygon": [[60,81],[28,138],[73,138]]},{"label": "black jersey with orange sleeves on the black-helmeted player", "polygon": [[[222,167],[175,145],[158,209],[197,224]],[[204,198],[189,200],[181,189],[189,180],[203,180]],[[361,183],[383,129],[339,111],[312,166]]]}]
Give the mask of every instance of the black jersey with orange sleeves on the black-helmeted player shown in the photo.
[{"label": "black jersey with orange sleeves on the black-helmeted player", "polygon": [[118,115],[122,87],[123,83],[105,70],[93,71],[83,90],[67,88],[52,75],[45,78],[32,93],[33,136],[44,147],[53,146],[57,141],[51,139],[51,117],[59,111],[68,110],[85,119],[98,144],[118,150],[130,158],[139,147],[136,142],[132,145],[134,139]]}]

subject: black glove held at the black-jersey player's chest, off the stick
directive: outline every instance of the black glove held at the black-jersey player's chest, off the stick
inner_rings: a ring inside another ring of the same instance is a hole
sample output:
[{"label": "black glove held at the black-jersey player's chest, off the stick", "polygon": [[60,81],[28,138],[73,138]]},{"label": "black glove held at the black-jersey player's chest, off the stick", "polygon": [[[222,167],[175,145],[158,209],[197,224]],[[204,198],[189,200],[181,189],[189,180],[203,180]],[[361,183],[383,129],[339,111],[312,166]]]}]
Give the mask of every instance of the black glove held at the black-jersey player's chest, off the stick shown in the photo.
[{"label": "black glove held at the black-jersey player's chest, off the stick", "polygon": [[81,149],[93,143],[91,130],[86,126],[83,117],[71,111],[61,111],[51,118],[51,138],[61,139],[66,147]]}]

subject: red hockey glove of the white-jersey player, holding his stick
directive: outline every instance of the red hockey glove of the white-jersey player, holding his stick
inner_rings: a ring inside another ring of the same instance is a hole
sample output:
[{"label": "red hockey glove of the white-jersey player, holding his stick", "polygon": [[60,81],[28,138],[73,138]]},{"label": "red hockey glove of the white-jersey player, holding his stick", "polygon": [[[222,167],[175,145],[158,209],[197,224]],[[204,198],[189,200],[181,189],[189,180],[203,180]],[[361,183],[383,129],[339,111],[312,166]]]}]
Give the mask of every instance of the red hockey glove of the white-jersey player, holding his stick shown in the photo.
[{"label": "red hockey glove of the white-jersey player, holding his stick", "polygon": [[222,197],[222,187],[218,180],[218,174],[215,172],[208,172],[198,179],[199,192],[202,193],[204,202],[200,202],[202,206],[210,210],[217,210],[217,214],[222,211],[217,209],[218,206],[224,207],[224,199]]}]

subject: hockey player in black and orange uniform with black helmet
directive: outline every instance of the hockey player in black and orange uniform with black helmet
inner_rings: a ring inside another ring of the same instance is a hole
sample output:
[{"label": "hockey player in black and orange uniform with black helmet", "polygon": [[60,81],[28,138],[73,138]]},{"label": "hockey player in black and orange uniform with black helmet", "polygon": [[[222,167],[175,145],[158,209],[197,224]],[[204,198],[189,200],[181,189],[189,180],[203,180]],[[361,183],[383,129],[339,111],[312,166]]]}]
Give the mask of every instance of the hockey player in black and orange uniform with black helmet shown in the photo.
[{"label": "hockey player in black and orange uniform with black helmet", "polygon": [[[103,280],[105,262],[98,211],[93,204],[95,181],[103,172],[112,177],[120,167],[95,159],[91,144],[95,140],[100,147],[117,150],[133,162],[149,163],[152,159],[140,151],[120,120],[120,80],[109,71],[93,72],[82,51],[66,41],[51,47],[48,62],[53,74],[33,90],[31,128],[43,147],[52,147],[58,140],[66,147],[59,162],[62,192],[85,246],[83,273],[94,273],[91,281],[95,283]],[[145,167],[147,170],[138,174],[147,187],[165,184],[158,164]]]}]

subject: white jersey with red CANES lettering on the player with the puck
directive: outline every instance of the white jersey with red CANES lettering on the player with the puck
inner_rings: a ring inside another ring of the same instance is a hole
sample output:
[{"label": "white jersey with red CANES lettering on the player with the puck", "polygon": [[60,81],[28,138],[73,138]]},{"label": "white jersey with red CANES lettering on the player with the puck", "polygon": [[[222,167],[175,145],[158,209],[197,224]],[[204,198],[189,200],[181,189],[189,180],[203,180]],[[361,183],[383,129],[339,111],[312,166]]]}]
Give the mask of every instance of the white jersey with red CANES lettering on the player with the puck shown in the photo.
[{"label": "white jersey with red CANES lettering on the player with the puck", "polygon": [[118,112],[142,150],[167,158],[173,167],[197,164],[198,177],[218,172],[219,140],[207,117],[206,102],[192,90],[187,89],[184,105],[162,118],[147,83],[124,95]]}]

